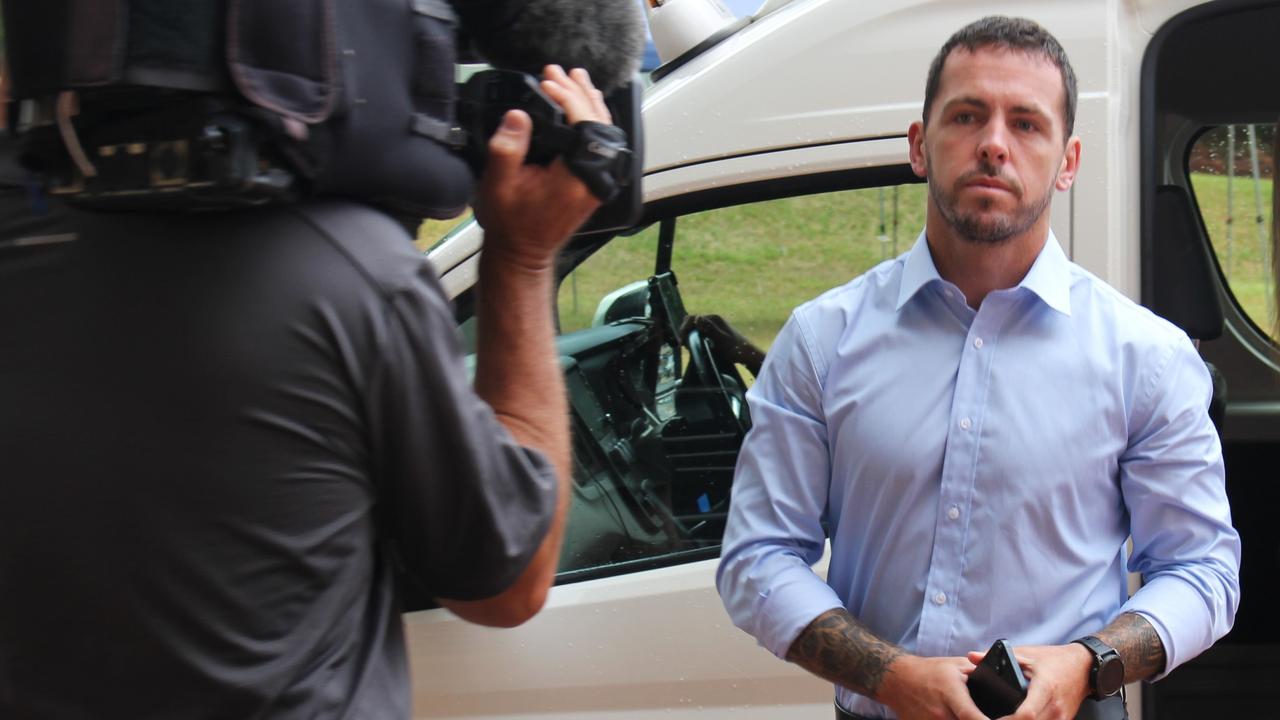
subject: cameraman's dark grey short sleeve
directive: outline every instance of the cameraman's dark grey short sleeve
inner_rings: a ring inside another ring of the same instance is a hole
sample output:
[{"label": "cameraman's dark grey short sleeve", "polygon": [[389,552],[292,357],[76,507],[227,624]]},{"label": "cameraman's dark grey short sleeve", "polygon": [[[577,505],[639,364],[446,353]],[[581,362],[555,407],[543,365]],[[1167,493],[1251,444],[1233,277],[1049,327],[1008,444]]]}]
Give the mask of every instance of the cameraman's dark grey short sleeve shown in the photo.
[{"label": "cameraman's dark grey short sleeve", "polygon": [[410,577],[451,600],[507,589],[550,527],[556,473],[472,392],[430,266],[392,299],[374,384],[379,503]]}]

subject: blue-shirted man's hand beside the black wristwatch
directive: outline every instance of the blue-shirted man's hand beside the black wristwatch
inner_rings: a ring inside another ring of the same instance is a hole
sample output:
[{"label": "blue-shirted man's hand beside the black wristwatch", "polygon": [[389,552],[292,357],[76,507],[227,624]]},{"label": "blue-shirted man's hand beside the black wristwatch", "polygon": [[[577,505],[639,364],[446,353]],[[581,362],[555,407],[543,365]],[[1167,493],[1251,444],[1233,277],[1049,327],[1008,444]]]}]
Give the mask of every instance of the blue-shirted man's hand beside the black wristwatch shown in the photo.
[{"label": "blue-shirted man's hand beside the black wristwatch", "polygon": [[[970,662],[986,653],[970,652]],[[1069,720],[1089,696],[1093,656],[1078,643],[1015,647],[1014,656],[1027,675],[1027,700],[1010,715],[1014,720]]]}]

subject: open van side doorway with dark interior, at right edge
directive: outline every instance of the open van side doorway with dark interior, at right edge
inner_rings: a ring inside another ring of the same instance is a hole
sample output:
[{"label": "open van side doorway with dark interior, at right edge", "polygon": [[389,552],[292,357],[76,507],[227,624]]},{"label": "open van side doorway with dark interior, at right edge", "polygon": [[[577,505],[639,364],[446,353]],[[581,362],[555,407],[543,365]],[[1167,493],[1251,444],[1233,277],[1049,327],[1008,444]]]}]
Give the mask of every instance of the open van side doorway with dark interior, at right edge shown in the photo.
[{"label": "open van side doorway with dark interior, at right edge", "polygon": [[1280,701],[1280,6],[1213,3],[1169,20],[1142,70],[1142,297],[1219,370],[1243,542],[1230,634],[1148,685],[1143,716],[1263,717]]}]

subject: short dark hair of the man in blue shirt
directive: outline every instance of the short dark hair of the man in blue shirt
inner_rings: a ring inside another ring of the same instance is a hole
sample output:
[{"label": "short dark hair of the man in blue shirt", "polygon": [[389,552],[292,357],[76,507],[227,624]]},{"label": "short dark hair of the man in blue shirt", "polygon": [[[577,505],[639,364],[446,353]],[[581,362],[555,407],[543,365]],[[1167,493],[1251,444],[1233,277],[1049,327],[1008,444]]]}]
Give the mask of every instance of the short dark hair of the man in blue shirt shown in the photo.
[{"label": "short dark hair of the man in blue shirt", "polygon": [[980,20],[972,22],[956,31],[929,65],[929,78],[924,85],[924,124],[929,123],[929,109],[933,108],[933,99],[938,94],[938,83],[942,79],[942,65],[947,56],[956,47],[964,47],[969,53],[975,53],[979,47],[996,47],[1018,50],[1028,55],[1041,55],[1057,65],[1062,73],[1062,119],[1065,132],[1062,141],[1071,137],[1075,131],[1075,70],[1071,61],[1066,59],[1066,51],[1056,37],[1027,18],[1007,18],[1005,15],[988,15]]}]

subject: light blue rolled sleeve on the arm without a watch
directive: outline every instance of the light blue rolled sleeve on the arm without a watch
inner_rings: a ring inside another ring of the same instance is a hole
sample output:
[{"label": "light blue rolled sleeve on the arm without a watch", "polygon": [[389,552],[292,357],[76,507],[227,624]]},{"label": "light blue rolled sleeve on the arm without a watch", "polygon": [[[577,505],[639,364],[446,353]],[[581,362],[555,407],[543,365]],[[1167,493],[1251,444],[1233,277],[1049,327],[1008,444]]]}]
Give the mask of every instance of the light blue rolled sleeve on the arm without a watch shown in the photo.
[{"label": "light blue rolled sleeve on the arm without a watch", "polygon": [[792,315],[748,393],[753,428],[733,479],[716,574],[733,624],[778,657],[844,602],[812,569],[822,559],[831,478],[822,388]]}]

